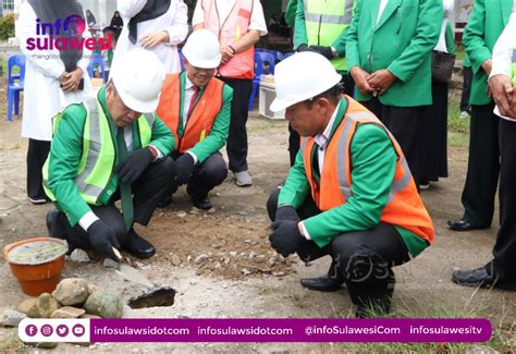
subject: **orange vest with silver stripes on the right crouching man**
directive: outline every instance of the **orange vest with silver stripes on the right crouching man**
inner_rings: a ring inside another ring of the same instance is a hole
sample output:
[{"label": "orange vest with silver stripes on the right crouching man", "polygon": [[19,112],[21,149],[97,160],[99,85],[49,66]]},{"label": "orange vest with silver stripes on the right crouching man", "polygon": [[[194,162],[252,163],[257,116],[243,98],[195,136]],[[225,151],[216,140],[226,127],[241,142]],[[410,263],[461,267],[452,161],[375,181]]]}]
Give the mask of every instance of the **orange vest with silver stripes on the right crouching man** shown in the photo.
[{"label": "orange vest with silver stripes on the right crouching man", "polygon": [[[346,204],[353,196],[351,144],[358,124],[376,124],[382,126],[391,138],[398,156],[396,172],[391,185],[388,203],[380,220],[385,223],[402,227],[432,243],[434,231],[432,221],[425,208],[416,188],[408,163],[396,139],[370,111],[357,101],[346,96],[347,110],[342,122],[336,127],[324,154],[324,164],[320,181],[312,174],[311,154],[315,139],[302,139],[302,154],[305,171],[310,184],[311,196],[320,210],[329,210]],[[317,151],[315,152],[317,154]]]}]

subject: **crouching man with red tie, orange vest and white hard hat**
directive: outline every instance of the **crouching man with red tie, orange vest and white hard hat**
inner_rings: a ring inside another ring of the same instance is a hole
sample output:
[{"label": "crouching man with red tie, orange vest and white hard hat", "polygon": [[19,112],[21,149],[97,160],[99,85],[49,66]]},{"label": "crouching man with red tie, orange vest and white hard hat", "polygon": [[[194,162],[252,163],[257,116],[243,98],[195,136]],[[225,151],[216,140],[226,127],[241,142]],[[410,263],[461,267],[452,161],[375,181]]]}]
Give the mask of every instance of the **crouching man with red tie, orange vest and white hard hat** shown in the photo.
[{"label": "crouching man with red tie, orange vest and white hard hat", "polygon": [[[208,210],[208,193],[221,184],[228,168],[219,150],[228,139],[233,89],[213,77],[221,54],[216,35],[208,29],[193,33],[183,47],[185,70],[169,74],[157,113],[172,131],[177,175],[172,193],[187,184],[195,207]],[[160,203],[172,203],[169,195]]]}]

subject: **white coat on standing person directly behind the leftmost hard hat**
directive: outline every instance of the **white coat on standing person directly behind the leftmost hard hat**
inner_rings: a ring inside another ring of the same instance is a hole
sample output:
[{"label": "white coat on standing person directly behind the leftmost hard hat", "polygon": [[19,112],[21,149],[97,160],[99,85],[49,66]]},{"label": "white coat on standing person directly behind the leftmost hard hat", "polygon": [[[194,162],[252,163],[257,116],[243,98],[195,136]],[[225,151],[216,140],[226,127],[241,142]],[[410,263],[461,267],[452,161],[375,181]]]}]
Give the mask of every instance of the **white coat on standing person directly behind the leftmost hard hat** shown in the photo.
[{"label": "white coat on standing person directly behind the leftmost hard hat", "polygon": [[[124,27],[120,34],[116,49],[114,50],[112,68],[123,53],[130,51],[135,47],[140,47],[139,39],[144,35],[153,34],[160,30],[169,33],[170,41],[168,44],[161,42],[156,47],[149,49],[155,52],[159,60],[163,63],[167,73],[177,73],[181,71],[180,57],[177,53],[177,45],[182,44],[188,34],[188,16],[187,7],[183,0],[171,0],[169,10],[161,16],[140,22],[137,24],[137,41],[135,45],[128,39],[128,23],[132,17],[137,15],[147,3],[147,0],[119,0],[118,9]],[[145,63],[135,63],[145,64]]]}]

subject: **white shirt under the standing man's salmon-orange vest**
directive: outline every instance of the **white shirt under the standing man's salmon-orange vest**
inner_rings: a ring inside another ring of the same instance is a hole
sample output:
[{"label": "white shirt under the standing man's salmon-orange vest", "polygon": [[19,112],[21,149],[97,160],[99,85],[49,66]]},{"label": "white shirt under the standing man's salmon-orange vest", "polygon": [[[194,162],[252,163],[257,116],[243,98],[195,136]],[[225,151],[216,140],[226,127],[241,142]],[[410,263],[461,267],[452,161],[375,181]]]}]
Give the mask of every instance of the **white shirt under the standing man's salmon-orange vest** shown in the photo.
[{"label": "white shirt under the standing man's salmon-orange vest", "polygon": [[[217,10],[219,12],[220,22],[224,22],[229,14],[233,10],[236,0],[214,0]],[[198,0],[195,7],[194,16],[192,19],[192,25],[198,25],[205,22],[205,11],[202,10],[202,0]],[[250,14],[249,29],[256,29],[260,32],[260,36],[267,35],[267,24],[263,16],[263,9],[261,2],[258,0],[253,1],[253,11]]]}]

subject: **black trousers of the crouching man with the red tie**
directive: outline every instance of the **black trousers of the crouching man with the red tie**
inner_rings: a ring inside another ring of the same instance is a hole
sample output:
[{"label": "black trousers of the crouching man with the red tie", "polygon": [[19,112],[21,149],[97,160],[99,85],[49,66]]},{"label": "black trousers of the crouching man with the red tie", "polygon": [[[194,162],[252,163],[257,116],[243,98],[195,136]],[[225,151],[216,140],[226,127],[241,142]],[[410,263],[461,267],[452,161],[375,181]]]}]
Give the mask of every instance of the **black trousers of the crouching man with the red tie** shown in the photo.
[{"label": "black trousers of the crouching man with the red tie", "polygon": [[[174,161],[182,154],[173,154]],[[216,152],[207,158],[202,163],[197,163],[186,185],[186,192],[194,200],[204,199],[216,186],[222,184],[228,176],[228,167],[220,152]],[[177,191],[175,179],[172,180],[172,193]]]}]

